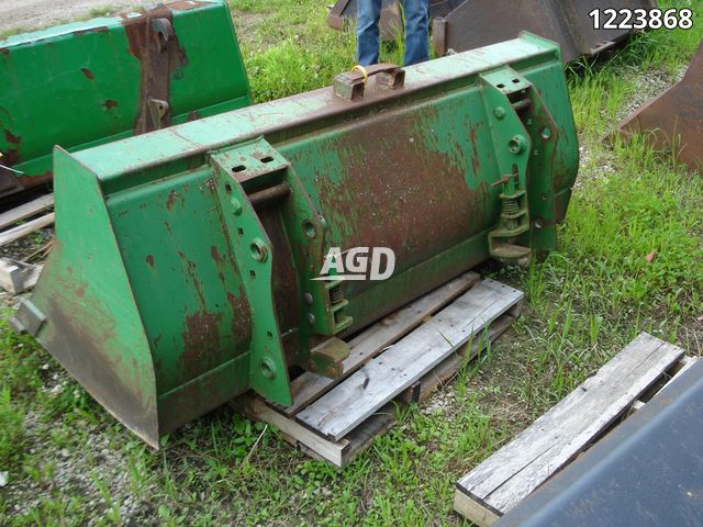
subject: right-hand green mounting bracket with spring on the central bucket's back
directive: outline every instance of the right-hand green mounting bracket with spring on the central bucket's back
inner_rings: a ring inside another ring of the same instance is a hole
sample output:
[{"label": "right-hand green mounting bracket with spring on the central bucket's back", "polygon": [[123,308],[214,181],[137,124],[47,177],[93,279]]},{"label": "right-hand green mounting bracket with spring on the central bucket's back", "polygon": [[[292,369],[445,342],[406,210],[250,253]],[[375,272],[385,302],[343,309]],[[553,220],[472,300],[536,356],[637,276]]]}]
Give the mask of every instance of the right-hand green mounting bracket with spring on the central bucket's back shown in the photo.
[{"label": "right-hand green mounting bracket with spring on the central bucket's back", "polygon": [[[547,220],[554,191],[546,159],[553,157],[557,127],[533,85],[512,68],[480,77],[502,175],[493,183],[501,188],[501,212],[488,236],[489,253],[506,264],[528,265],[533,249],[550,250],[556,243]],[[539,179],[531,179],[533,173]]]}]

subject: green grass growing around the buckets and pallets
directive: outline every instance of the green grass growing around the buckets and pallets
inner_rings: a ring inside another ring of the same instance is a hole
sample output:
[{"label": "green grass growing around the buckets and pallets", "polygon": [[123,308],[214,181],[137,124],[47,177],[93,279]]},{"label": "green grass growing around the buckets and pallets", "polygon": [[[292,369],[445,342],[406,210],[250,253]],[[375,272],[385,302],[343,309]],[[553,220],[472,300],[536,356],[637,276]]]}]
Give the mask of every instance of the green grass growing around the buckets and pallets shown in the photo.
[{"label": "green grass growing around the buckets and pallets", "polygon": [[[354,36],[326,27],[325,3],[231,2],[257,101],[326,86],[354,65]],[[457,525],[457,478],[640,330],[700,355],[703,179],[641,137],[603,141],[631,101],[647,99],[647,78],[670,83],[688,64],[702,36],[703,2],[693,8],[693,31],[638,35],[624,49],[572,66],[584,159],[560,249],[529,269],[487,268],[527,293],[523,317],[428,404],[398,408],[399,425],[348,468],[313,461],[277,430],[226,407],[154,452],[4,324],[0,470],[10,471],[11,483],[0,491],[0,524],[82,525],[90,517],[120,525],[131,517],[121,506],[135,496],[138,524]],[[382,59],[400,63],[402,43],[387,45]],[[87,447],[96,440],[104,442]],[[81,482],[67,482],[62,451],[80,461]],[[26,511],[14,512],[30,498],[36,501]]]}]

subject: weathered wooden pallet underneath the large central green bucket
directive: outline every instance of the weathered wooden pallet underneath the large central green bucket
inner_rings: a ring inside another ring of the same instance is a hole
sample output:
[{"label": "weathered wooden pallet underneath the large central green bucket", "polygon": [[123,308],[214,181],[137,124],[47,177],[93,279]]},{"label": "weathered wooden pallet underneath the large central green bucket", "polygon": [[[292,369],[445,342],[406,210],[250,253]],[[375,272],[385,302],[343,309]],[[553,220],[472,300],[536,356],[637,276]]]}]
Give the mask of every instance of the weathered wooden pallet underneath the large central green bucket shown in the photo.
[{"label": "weathered wooden pallet underneath the large central green bucket", "polygon": [[520,291],[466,273],[349,340],[342,379],[303,373],[291,382],[288,407],[254,395],[233,404],[342,468],[395,423],[398,405],[427,399],[504,333],[522,300]]}]

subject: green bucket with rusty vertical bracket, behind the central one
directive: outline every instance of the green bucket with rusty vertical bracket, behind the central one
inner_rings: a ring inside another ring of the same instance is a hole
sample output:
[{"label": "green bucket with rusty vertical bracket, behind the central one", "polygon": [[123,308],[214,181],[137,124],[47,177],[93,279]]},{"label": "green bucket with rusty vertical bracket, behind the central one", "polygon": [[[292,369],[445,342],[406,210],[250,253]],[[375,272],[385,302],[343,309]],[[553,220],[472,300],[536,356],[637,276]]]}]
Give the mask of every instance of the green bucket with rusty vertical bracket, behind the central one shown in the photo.
[{"label": "green bucket with rusty vertical bracket, behind the central one", "polygon": [[51,180],[54,145],[81,150],[252,103],[220,0],[11,36],[0,86],[0,165],[22,172],[0,169],[0,195]]}]

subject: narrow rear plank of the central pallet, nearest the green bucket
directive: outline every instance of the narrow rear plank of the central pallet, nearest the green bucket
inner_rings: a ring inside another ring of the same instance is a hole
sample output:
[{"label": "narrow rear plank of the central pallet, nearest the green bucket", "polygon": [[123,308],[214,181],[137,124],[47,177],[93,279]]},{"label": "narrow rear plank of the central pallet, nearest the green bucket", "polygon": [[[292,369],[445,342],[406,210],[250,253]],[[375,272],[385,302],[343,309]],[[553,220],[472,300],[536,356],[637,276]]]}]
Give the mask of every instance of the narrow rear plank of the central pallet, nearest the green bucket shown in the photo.
[{"label": "narrow rear plank of the central pallet, nearest the green bucket", "polygon": [[476,272],[466,272],[387,316],[381,322],[373,324],[349,341],[349,357],[344,361],[344,374],[339,379],[327,379],[311,372],[301,374],[291,382],[293,404],[279,410],[286,415],[295,415],[304,406],[313,403],[343,380],[349,378],[388,346],[408,335],[424,318],[439,311],[479,280],[480,277]]}]

